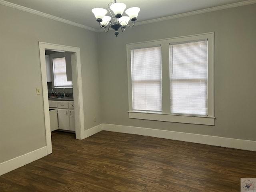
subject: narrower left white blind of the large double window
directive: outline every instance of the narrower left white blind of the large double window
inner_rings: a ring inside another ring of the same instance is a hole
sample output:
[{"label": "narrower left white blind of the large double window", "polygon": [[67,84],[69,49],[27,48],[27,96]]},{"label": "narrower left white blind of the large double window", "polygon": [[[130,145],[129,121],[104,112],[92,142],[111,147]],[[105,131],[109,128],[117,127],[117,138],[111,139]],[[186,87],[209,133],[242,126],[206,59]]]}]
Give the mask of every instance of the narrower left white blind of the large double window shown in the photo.
[{"label": "narrower left white blind of the large double window", "polygon": [[133,110],[162,111],[161,46],[131,50]]}]

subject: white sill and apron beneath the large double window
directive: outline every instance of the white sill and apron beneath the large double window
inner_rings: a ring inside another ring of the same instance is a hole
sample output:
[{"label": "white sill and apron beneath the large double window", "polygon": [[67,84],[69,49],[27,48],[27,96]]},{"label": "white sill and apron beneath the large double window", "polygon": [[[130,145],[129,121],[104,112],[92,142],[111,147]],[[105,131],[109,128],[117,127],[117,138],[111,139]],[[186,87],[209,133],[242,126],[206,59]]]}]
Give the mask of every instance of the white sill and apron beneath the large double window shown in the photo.
[{"label": "white sill and apron beneath the large double window", "polygon": [[200,124],[200,125],[215,125],[215,117],[182,116],[182,115],[171,115],[171,114],[154,113],[154,112],[136,112],[136,111],[128,111],[128,113],[129,113],[129,118],[132,118],[132,119],[144,119],[144,120]]}]

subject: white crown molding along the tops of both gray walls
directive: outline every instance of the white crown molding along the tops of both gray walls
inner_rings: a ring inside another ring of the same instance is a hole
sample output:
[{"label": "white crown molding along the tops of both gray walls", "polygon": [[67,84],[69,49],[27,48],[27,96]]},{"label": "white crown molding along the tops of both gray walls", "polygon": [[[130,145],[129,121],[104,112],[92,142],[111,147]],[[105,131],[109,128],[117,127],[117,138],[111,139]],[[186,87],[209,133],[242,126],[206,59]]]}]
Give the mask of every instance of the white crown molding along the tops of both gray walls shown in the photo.
[{"label": "white crown molding along the tops of both gray walls", "polygon": [[[244,5],[254,4],[254,3],[256,3],[256,0],[248,0],[248,1],[244,1],[244,2],[238,2],[238,3],[233,3],[233,4],[228,4],[228,5],[223,5],[223,6],[218,6],[218,7],[214,7],[214,8],[208,8],[208,9],[202,9],[202,10],[198,10],[198,11],[192,11],[192,12],[188,12],[188,13],[182,13],[182,14],[167,16],[167,17],[158,18],[158,19],[136,22],[136,25],[150,24],[152,22],[166,21],[166,20],[170,20],[170,19],[192,16],[192,15],[196,15],[196,14],[202,14],[202,13],[206,13],[206,12],[223,10],[223,9],[228,9],[228,8],[233,8],[233,7],[238,7],[238,6],[244,6]],[[82,24],[78,24],[76,22],[72,22],[72,21],[62,19],[62,18],[59,18],[59,17],[56,17],[56,16],[52,16],[50,14],[46,14],[46,13],[43,13],[43,12],[40,12],[40,11],[37,11],[37,10],[34,10],[34,9],[30,9],[30,8],[27,8],[27,7],[24,7],[24,6],[13,4],[13,3],[10,3],[10,2],[6,2],[4,0],[0,0],[0,4],[8,6],[8,7],[15,8],[15,9],[18,9],[18,10],[22,10],[22,11],[25,11],[25,12],[29,12],[29,13],[32,13],[32,14],[36,14],[36,15],[39,15],[39,16],[42,16],[42,17],[46,17],[46,18],[49,18],[49,19],[52,19],[52,20],[56,20],[56,21],[59,21],[59,22],[70,24],[70,25],[73,25],[73,26],[76,26],[76,27],[91,30],[91,31],[94,31],[94,32],[104,31],[102,29],[97,30],[95,28],[91,28],[91,27],[88,27],[88,26],[85,26],[85,25],[82,25]]]}]

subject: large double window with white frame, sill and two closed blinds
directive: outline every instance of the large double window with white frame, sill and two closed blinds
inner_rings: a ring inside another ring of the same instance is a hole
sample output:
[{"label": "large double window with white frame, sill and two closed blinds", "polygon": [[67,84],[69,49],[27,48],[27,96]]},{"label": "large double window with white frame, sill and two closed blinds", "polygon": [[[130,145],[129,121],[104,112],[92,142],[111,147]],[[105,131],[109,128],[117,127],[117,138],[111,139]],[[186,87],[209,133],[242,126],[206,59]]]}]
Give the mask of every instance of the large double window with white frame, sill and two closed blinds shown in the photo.
[{"label": "large double window with white frame, sill and two closed blinds", "polygon": [[127,44],[129,117],[214,125],[214,33]]}]

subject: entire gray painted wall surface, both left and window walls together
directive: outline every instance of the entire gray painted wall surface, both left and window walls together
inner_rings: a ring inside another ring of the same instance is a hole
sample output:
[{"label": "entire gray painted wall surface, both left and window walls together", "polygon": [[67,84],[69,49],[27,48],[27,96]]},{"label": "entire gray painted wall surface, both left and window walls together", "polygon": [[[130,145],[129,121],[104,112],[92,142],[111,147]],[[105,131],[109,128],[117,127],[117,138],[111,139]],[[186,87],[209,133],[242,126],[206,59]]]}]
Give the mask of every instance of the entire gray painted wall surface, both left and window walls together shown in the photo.
[{"label": "entire gray painted wall surface, both left and window walls together", "polygon": [[[108,123],[256,140],[255,18],[252,4],[134,26],[116,38],[0,5],[0,163],[46,146],[38,41],[80,47],[85,130]],[[216,125],[129,119],[126,44],[205,32],[215,32]]]}]

